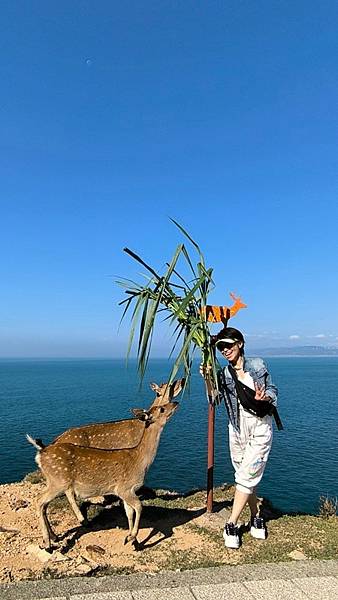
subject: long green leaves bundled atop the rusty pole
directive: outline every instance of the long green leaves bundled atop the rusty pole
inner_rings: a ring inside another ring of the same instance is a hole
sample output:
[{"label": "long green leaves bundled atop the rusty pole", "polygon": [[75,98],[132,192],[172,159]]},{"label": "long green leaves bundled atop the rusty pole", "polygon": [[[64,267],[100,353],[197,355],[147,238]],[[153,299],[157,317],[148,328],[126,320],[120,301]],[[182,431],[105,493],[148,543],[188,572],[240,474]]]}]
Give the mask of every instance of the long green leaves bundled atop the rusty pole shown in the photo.
[{"label": "long green leaves bundled atop the rusty pole", "polygon": [[124,248],[124,251],[147,271],[146,283],[136,283],[127,279],[118,281],[125,288],[128,296],[120,302],[120,305],[124,305],[121,321],[127,313],[131,312],[127,355],[129,356],[137,336],[138,370],[142,380],[149,360],[156,318],[161,314],[174,327],[174,343],[169,356],[176,354],[176,358],[169,383],[174,380],[180,368],[183,368],[188,381],[193,356],[196,349],[199,349],[203,364],[210,368],[207,382],[210,398],[212,393],[216,396],[217,364],[210,345],[209,329],[203,309],[207,305],[208,294],[214,285],[213,269],[206,267],[198,244],[187,231],[173,219],[172,221],[192,245],[193,252],[197,254],[195,263],[185,244],[179,244],[171,260],[166,263],[166,271],[160,275],[135,252]]}]

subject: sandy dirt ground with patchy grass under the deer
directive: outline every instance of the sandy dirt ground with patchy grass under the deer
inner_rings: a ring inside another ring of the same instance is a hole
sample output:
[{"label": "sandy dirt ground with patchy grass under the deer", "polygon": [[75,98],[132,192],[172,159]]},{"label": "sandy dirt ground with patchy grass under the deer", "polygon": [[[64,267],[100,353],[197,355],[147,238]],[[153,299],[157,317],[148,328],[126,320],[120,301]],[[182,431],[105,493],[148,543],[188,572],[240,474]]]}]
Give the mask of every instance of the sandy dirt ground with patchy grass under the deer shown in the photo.
[{"label": "sandy dirt ground with patchy grass under the deer", "polygon": [[[42,549],[36,517],[36,501],[45,484],[39,477],[37,483],[32,481],[34,477],[0,486],[0,582],[330,558],[337,552],[337,517],[328,525],[319,517],[308,517],[315,521],[311,522],[312,536],[305,543],[295,533],[295,522],[289,523],[287,517],[277,513],[270,514],[266,542],[253,540],[246,532],[240,550],[225,549],[222,528],[233,495],[228,487],[215,490],[215,512],[211,515],[205,513],[205,492],[182,497],[173,492],[145,490],[140,496],[144,508],[137,548],[124,544],[127,519],[118,500],[109,504],[107,499],[97,498],[94,503],[83,505],[89,523],[83,527],[67,500],[58,498],[48,509],[58,535],[55,549],[48,553]],[[308,531],[309,522],[304,526]],[[327,526],[337,534],[329,549],[325,544]]]}]

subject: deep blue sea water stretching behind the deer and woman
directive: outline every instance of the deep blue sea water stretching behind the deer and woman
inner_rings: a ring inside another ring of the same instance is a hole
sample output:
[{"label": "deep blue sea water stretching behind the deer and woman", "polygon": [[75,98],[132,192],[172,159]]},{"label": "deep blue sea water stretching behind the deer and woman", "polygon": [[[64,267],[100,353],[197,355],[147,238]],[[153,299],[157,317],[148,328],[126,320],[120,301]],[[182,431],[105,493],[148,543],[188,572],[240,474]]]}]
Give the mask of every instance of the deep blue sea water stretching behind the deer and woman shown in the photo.
[{"label": "deep blue sea water stretching behind the deer and woman", "polygon": [[[320,495],[338,495],[338,359],[268,358],[285,430],[275,429],[259,493],[286,512],[318,512]],[[0,483],[35,470],[25,433],[47,443],[74,425],[124,419],[146,408],[149,383],[166,381],[167,360],[149,363],[142,390],[135,362],[1,360]],[[206,486],[207,401],[195,365],[190,390],[168,423],[146,484],[185,492]],[[215,485],[233,482],[224,406],[216,412]]]}]

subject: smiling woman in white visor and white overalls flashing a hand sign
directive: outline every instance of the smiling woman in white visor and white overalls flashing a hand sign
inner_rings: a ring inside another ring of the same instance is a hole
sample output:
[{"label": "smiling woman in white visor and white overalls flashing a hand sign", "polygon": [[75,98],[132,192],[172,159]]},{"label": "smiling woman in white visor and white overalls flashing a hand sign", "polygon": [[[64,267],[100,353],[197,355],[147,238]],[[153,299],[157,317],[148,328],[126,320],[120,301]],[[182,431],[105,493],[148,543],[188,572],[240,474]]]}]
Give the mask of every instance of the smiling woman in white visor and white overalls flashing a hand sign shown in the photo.
[{"label": "smiling woman in white visor and white overalls flashing a hand sign", "polygon": [[219,391],[229,416],[230,455],[236,481],[232,511],[223,537],[227,548],[239,548],[237,523],[246,504],[251,512],[251,535],[266,539],[265,522],[258,513],[256,487],[271,449],[271,414],[277,403],[277,388],[261,358],[244,356],[244,337],[238,329],[225,327],[212,341],[228,361],[218,376]]}]

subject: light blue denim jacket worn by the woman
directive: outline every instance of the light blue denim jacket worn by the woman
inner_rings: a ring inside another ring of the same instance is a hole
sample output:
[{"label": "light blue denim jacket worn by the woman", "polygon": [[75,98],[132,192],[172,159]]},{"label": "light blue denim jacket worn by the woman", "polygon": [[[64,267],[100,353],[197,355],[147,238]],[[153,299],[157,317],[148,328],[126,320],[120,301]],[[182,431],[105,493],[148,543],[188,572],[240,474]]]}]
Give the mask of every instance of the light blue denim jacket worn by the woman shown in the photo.
[{"label": "light blue denim jacket worn by the woman", "polygon": [[[244,371],[248,371],[254,381],[259,386],[265,387],[265,394],[271,398],[272,406],[277,406],[277,388],[271,381],[271,375],[265,362],[261,358],[244,357]],[[224,398],[225,406],[228,412],[229,421],[232,426],[239,431],[239,410],[238,396],[236,386],[228,366],[225,366],[218,372],[219,392]]]}]

